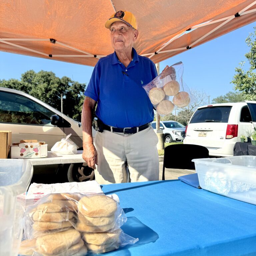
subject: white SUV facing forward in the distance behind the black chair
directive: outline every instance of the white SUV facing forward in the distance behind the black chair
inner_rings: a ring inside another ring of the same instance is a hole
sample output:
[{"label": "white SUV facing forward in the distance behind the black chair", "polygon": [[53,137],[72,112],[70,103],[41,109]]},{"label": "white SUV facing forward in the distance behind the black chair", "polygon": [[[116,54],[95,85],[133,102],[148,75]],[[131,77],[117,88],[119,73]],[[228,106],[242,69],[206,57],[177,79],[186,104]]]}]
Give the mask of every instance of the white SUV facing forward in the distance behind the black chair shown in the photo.
[{"label": "white SUV facing forward in the distance behind the black chair", "polygon": [[[151,123],[156,131],[156,122]],[[160,121],[160,130],[163,130],[165,143],[183,141],[185,138],[185,126],[176,121]]]}]

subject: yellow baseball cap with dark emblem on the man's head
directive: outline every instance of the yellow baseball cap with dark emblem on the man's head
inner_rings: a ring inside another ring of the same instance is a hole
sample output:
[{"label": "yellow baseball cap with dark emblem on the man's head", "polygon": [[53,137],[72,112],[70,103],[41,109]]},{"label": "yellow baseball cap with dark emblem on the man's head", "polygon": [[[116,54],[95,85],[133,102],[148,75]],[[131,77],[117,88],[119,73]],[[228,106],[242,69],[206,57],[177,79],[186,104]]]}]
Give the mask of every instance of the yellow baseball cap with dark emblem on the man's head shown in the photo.
[{"label": "yellow baseball cap with dark emblem on the man's head", "polygon": [[135,16],[131,12],[128,12],[128,11],[118,11],[118,12],[114,13],[108,19],[108,21],[105,23],[105,27],[106,28],[110,28],[111,24],[116,22],[116,21],[123,21],[127,25],[137,29],[137,23],[136,23]]}]

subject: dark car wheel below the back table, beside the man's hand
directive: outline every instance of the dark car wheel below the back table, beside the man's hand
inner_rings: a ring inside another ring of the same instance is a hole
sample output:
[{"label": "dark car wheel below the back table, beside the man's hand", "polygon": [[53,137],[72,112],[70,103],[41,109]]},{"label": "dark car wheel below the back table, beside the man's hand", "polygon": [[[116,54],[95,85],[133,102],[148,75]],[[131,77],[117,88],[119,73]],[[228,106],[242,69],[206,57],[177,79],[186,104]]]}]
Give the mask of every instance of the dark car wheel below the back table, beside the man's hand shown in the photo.
[{"label": "dark car wheel below the back table, beside the man's hand", "polygon": [[69,182],[95,180],[94,170],[87,163],[70,164],[67,175]]}]

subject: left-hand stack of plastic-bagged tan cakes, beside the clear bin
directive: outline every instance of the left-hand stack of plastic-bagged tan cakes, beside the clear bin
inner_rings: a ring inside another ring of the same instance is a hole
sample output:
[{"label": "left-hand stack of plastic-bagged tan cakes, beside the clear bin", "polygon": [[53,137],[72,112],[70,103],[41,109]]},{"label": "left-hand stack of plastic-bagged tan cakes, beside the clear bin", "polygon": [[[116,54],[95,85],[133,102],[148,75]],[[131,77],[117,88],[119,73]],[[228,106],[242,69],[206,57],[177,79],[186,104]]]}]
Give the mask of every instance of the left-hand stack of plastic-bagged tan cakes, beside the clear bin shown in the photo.
[{"label": "left-hand stack of plastic-bagged tan cakes, beside the clear bin", "polygon": [[79,199],[73,194],[52,194],[28,209],[23,255],[83,256],[87,248],[72,222]]}]

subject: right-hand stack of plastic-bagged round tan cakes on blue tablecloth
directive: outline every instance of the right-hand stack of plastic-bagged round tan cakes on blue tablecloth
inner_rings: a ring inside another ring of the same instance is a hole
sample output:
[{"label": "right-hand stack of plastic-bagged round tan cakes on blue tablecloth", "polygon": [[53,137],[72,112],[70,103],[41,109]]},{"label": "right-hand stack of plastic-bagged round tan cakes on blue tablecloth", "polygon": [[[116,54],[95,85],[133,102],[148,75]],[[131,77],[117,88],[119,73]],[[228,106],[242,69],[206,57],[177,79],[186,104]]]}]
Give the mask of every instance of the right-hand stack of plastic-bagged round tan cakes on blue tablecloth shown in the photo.
[{"label": "right-hand stack of plastic-bagged round tan cakes on blue tablecloth", "polygon": [[78,202],[76,229],[93,253],[104,253],[119,248],[120,215],[117,202],[105,195],[83,197]]}]

